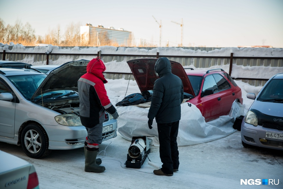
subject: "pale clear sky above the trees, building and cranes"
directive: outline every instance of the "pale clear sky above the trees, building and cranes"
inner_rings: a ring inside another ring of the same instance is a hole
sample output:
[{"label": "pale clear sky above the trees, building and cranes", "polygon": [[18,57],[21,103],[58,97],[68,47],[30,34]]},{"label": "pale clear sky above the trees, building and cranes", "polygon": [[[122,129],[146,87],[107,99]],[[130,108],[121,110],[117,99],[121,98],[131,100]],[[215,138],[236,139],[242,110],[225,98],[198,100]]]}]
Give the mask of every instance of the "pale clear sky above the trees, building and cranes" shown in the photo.
[{"label": "pale clear sky above the trees, building and cranes", "polygon": [[14,25],[29,22],[36,35],[44,36],[73,23],[124,28],[140,39],[159,46],[237,47],[271,45],[283,48],[283,0],[0,0],[0,18]]}]

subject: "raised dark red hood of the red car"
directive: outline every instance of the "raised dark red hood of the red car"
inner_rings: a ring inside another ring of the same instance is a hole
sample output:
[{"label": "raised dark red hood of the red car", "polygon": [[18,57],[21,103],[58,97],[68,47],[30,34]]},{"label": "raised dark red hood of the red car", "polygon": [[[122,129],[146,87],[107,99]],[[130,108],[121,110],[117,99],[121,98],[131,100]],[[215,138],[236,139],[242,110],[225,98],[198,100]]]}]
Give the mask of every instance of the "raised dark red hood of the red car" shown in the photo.
[{"label": "raised dark red hood of the red car", "polygon": [[[127,61],[141,92],[152,90],[155,80],[159,78],[154,70],[157,60],[157,58],[140,58]],[[183,82],[184,92],[195,97],[194,90],[183,66],[175,61],[170,61],[170,63],[172,74],[180,77]]]}]

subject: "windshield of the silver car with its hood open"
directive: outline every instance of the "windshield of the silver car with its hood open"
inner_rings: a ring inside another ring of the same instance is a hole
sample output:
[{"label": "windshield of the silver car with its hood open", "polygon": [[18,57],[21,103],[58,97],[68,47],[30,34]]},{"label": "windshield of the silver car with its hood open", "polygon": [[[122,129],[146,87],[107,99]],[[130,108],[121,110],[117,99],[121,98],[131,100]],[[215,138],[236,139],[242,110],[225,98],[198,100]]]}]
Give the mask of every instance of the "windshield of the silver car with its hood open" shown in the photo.
[{"label": "windshield of the silver car with its hood open", "polygon": [[45,74],[36,74],[7,76],[7,78],[15,85],[15,87],[27,100],[30,100],[46,76],[47,75]]}]

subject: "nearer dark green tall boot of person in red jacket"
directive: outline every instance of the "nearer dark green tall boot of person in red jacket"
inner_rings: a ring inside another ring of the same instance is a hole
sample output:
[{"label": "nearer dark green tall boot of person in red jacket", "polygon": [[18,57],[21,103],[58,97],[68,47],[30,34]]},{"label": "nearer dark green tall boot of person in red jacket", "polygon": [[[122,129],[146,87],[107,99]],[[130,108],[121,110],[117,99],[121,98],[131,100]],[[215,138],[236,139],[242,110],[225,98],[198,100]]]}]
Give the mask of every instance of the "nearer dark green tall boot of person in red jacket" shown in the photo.
[{"label": "nearer dark green tall boot of person in red jacket", "polygon": [[96,164],[96,151],[85,149],[85,172],[103,172],[105,167]]}]

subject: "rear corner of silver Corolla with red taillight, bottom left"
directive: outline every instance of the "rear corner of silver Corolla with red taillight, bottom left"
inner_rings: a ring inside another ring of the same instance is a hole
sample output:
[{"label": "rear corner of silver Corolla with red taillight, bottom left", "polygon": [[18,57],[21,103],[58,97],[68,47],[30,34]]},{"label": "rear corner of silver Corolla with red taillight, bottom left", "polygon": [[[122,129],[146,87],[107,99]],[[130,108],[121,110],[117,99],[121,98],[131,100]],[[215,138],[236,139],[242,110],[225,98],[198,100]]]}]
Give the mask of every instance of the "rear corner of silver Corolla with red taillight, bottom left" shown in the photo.
[{"label": "rear corner of silver Corolla with red taillight, bottom left", "polygon": [[39,189],[35,168],[29,162],[0,150],[0,188]]}]

